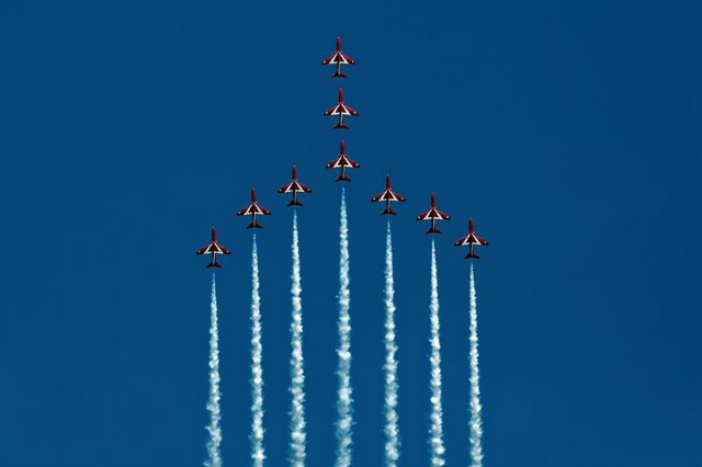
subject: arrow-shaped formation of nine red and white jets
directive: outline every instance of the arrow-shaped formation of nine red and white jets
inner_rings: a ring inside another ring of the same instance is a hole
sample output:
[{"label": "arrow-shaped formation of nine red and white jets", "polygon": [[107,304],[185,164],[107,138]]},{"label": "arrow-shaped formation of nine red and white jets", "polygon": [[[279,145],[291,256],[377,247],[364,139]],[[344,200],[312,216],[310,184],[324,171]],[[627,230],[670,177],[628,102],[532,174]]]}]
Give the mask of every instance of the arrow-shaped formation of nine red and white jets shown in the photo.
[{"label": "arrow-shaped formation of nine red and white jets", "polygon": [[[330,65],[336,67],[335,72],[331,75],[331,78],[348,78],[343,72],[343,65],[355,65],[355,60],[350,56],[346,55],[341,50],[341,38],[337,37],[337,47],[332,55],[321,60],[321,65]],[[344,116],[356,116],[359,112],[356,112],[353,107],[349,106],[343,100],[343,89],[339,88],[338,102],[333,106],[329,107],[324,112],[325,116],[333,116],[338,115],[339,119],[333,125],[333,129],[349,129],[349,125],[343,121]],[[346,153],[346,144],[343,140],[340,143],[339,157],[333,159],[332,161],[326,164],[327,169],[339,169],[339,175],[335,179],[336,182],[350,182],[351,178],[348,175],[348,169],[359,169],[361,164],[359,162],[350,159]],[[303,206],[302,202],[298,198],[299,193],[312,193],[312,189],[304,183],[302,183],[297,179],[297,168],[293,166],[292,168],[292,179],[288,183],[281,186],[278,190],[279,194],[292,193],[292,198],[287,203],[288,207],[297,207]],[[372,203],[385,203],[385,208],[381,212],[381,216],[385,215],[397,215],[395,210],[392,208],[392,203],[394,202],[405,202],[405,197],[393,190],[390,185],[390,175],[389,173],[385,175],[385,190],[381,193],[376,194],[371,198]],[[247,229],[256,228],[260,229],[262,226],[258,223],[257,216],[269,216],[271,212],[265,207],[261,206],[256,200],[256,189],[251,189],[251,202],[248,206],[237,212],[237,216],[251,216],[251,223],[246,227]],[[431,226],[424,234],[441,234],[441,230],[437,227],[438,220],[450,220],[451,217],[437,207],[437,196],[431,194],[431,204],[429,210],[426,210],[417,216],[417,220],[429,220]],[[467,246],[469,248],[468,253],[464,257],[464,259],[479,259],[475,253],[476,246],[487,246],[488,241],[483,237],[479,237],[475,234],[473,228],[473,218],[468,220],[468,234],[465,237],[460,238],[455,241],[454,246],[464,247]],[[206,247],[196,251],[196,254],[211,254],[211,261],[206,264],[205,267],[222,267],[216,260],[217,254],[230,254],[231,251],[227,248],[220,246],[216,240],[216,230],[212,228],[212,241]]]}]

